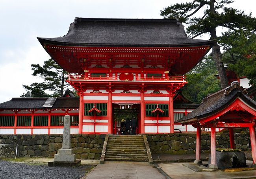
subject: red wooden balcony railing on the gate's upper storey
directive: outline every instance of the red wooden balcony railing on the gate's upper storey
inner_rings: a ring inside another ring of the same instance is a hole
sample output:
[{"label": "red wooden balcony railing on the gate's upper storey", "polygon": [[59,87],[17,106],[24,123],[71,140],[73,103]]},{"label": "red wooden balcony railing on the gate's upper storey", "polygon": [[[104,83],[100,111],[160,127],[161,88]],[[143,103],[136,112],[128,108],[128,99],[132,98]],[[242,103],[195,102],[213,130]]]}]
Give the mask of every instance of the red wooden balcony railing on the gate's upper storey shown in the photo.
[{"label": "red wooden balcony railing on the gate's upper storey", "polygon": [[89,81],[174,81],[174,82],[186,82],[186,76],[152,76],[152,77],[140,77],[135,76],[133,80],[120,80],[119,76],[83,76],[69,74],[68,80],[89,80]]}]

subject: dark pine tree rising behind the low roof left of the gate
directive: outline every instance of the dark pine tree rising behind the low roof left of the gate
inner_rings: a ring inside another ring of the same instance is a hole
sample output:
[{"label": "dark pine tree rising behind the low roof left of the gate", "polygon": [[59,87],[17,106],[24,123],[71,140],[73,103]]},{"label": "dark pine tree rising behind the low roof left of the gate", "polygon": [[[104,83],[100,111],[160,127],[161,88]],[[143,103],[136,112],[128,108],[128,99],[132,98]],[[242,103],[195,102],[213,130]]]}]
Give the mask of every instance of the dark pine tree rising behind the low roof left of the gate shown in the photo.
[{"label": "dark pine tree rising behind the low roof left of the gate", "polygon": [[[61,68],[53,59],[44,62],[44,65],[32,64],[33,76],[37,76],[44,81],[42,83],[32,83],[23,85],[26,93],[20,97],[49,97],[62,96],[64,89],[69,87],[65,81],[67,72]],[[46,91],[53,91],[53,94],[47,94]]]}]

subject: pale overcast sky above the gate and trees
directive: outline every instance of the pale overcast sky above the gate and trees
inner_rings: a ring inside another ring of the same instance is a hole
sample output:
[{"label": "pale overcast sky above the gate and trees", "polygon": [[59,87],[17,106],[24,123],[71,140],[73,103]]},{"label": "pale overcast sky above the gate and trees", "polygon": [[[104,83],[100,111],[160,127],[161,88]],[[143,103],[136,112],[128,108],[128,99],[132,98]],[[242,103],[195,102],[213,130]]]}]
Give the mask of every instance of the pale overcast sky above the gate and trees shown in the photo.
[{"label": "pale overcast sky above the gate and trees", "polygon": [[[50,56],[36,37],[67,34],[75,17],[163,18],[160,10],[185,0],[0,0],[0,103],[26,92],[22,85],[40,82],[31,64]],[[256,16],[255,0],[232,7]]]}]

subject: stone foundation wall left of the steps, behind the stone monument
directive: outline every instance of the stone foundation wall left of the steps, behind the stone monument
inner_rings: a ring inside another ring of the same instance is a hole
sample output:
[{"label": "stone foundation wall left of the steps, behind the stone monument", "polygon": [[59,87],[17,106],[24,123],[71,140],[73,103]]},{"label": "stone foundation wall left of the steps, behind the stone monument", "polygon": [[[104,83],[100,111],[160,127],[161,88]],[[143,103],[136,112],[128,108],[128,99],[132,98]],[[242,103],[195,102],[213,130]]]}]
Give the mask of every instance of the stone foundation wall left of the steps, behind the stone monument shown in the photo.
[{"label": "stone foundation wall left of the steps, behind the stone monument", "polygon": [[[63,135],[0,135],[0,144],[18,144],[19,157],[54,157]],[[105,134],[71,134],[77,159],[99,160]],[[15,157],[16,145],[0,145],[0,157]]]}]

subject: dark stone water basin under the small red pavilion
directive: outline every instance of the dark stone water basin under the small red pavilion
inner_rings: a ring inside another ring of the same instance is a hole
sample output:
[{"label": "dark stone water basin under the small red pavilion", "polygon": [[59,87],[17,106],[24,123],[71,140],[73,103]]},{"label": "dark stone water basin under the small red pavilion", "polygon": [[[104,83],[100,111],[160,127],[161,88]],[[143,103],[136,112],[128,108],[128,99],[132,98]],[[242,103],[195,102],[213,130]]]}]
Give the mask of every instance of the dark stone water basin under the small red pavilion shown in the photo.
[{"label": "dark stone water basin under the small red pavilion", "polygon": [[[211,163],[209,156],[208,166]],[[236,149],[216,149],[216,164],[220,170],[245,167],[245,153]]]}]

